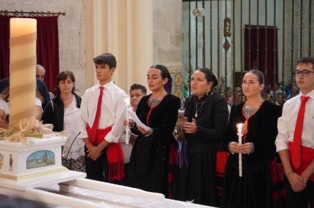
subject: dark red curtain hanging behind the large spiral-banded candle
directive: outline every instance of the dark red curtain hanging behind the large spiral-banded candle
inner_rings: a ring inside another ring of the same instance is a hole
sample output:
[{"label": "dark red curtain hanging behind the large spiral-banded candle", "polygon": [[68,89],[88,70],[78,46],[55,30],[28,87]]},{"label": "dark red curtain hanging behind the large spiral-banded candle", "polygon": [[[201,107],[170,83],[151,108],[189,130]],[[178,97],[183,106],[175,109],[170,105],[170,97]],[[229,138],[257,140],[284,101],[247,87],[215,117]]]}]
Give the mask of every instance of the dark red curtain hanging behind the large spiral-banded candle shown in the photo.
[{"label": "dark red curtain hanging behind the large spiral-banded candle", "polygon": [[[0,15],[0,79],[8,77],[9,73],[9,39],[11,17],[13,16]],[[45,83],[48,90],[50,90],[50,92],[54,92],[55,79],[57,74],[59,74],[58,16],[30,18],[37,19],[37,63],[45,67]]]}]

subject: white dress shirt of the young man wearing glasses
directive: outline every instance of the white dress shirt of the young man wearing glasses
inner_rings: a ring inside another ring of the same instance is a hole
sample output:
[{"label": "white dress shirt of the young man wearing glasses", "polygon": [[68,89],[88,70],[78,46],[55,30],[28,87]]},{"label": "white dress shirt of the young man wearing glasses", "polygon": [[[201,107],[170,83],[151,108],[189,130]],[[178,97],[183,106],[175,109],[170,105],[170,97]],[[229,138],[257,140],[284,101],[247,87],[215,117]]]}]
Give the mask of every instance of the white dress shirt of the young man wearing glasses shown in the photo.
[{"label": "white dress shirt of the young man wearing glasses", "polygon": [[[288,143],[293,141],[302,95],[300,92],[299,95],[288,99],[283,105],[283,115],[278,118],[278,135],[275,142],[277,152],[288,150]],[[314,90],[304,96],[308,96],[310,99],[306,102],[301,145],[314,149]]]}]

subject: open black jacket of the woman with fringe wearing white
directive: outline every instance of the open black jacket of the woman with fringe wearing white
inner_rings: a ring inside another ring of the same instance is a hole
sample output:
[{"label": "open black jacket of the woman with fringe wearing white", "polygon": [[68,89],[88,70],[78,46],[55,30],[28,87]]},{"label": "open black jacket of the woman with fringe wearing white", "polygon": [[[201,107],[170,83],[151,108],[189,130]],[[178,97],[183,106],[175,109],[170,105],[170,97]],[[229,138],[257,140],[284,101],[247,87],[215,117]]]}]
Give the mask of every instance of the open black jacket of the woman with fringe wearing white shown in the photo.
[{"label": "open black jacket of the woman with fringe wearing white", "polygon": [[[82,98],[75,93],[76,105],[80,109]],[[54,125],[53,131],[63,131],[64,105],[60,95],[47,104],[43,112],[43,123]]]}]

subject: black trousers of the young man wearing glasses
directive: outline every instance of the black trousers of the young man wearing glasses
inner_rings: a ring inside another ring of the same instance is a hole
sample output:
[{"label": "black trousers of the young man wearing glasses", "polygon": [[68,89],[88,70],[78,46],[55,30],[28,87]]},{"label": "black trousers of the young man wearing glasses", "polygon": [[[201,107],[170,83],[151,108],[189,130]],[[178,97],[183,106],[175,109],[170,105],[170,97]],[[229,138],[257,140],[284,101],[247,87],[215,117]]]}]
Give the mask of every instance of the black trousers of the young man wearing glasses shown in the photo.
[{"label": "black trousers of the young man wearing glasses", "polygon": [[314,208],[314,182],[308,181],[303,191],[294,192],[288,179],[285,179],[287,208]]}]

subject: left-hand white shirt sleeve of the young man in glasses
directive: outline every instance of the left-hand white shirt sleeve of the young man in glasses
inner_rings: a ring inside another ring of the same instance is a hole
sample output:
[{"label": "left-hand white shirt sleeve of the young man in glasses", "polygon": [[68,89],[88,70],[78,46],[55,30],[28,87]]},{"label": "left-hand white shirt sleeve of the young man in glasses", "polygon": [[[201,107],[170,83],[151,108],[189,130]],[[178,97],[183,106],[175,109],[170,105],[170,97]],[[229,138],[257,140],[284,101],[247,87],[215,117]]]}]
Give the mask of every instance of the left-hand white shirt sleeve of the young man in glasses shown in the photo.
[{"label": "left-hand white shirt sleeve of the young man in glasses", "polygon": [[279,152],[281,150],[289,150],[287,143],[289,143],[289,120],[287,119],[287,106],[283,106],[283,114],[280,118],[278,118],[277,128],[278,135],[275,141],[276,151]]}]

